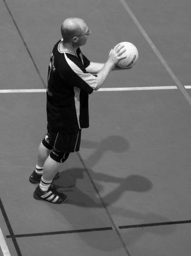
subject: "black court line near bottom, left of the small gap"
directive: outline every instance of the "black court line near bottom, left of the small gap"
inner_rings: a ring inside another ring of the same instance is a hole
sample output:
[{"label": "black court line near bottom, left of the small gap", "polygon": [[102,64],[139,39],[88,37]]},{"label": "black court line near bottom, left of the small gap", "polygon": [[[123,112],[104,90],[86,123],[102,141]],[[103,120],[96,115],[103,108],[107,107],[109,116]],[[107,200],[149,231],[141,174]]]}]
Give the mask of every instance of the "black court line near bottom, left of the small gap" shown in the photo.
[{"label": "black court line near bottom, left of the small gap", "polygon": [[[50,236],[50,235],[83,233],[83,232],[105,231],[105,230],[113,230],[113,229],[112,229],[112,227],[108,227],[108,228],[91,228],[91,229],[77,229],[77,230],[66,230],[66,231],[55,231],[55,232],[43,232],[43,233],[31,233],[31,234],[14,235],[14,237]],[[12,236],[6,236],[6,237],[7,238],[12,238]]]}]

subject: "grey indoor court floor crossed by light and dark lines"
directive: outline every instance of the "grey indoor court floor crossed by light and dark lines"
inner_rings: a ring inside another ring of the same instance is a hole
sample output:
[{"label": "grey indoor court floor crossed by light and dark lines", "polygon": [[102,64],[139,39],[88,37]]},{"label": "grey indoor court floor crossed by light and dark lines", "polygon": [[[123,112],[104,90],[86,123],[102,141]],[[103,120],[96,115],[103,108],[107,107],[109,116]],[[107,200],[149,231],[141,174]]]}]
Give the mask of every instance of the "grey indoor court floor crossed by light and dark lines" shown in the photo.
[{"label": "grey indoor court floor crossed by light and dark lines", "polygon": [[[0,3],[0,256],[190,256],[191,1]],[[90,28],[90,61],[124,41],[139,60],[89,96],[90,127],[54,181],[69,199],[54,205],[33,198],[29,176],[68,17]]]}]

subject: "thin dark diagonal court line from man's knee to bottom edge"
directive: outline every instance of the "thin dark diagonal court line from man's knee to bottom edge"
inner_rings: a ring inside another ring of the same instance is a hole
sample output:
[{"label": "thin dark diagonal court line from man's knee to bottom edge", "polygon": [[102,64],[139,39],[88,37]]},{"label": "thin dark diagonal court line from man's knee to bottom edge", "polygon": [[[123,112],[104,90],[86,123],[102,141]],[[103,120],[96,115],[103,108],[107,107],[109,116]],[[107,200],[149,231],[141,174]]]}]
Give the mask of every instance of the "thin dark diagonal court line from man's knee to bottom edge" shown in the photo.
[{"label": "thin dark diagonal court line from man's knee to bottom edge", "polygon": [[127,249],[127,246],[125,245],[125,243],[124,243],[124,241],[123,241],[123,239],[122,239],[122,236],[121,236],[121,234],[120,234],[120,232],[119,232],[117,226],[115,225],[115,223],[114,223],[114,221],[113,221],[113,219],[112,219],[112,217],[111,217],[111,214],[109,213],[109,211],[108,211],[108,209],[107,209],[106,204],[105,204],[104,201],[103,201],[103,198],[101,197],[101,195],[100,195],[100,193],[99,193],[99,191],[98,191],[98,189],[97,189],[97,187],[96,187],[96,184],[94,183],[94,181],[93,181],[93,179],[92,179],[92,177],[91,177],[91,175],[90,175],[90,173],[89,173],[89,171],[88,171],[88,168],[86,167],[86,165],[85,165],[85,163],[84,163],[84,161],[83,161],[83,159],[82,159],[82,157],[81,157],[81,155],[80,155],[80,153],[77,152],[77,155],[78,155],[78,157],[79,157],[79,159],[80,159],[80,161],[81,161],[81,163],[82,163],[82,165],[83,165],[84,170],[86,171],[86,173],[87,173],[87,175],[88,175],[88,177],[89,177],[89,179],[90,179],[91,184],[93,185],[93,187],[94,187],[94,189],[95,189],[95,191],[96,191],[96,193],[97,193],[97,195],[98,195],[98,197],[99,197],[99,199],[100,199],[100,202],[101,202],[102,205],[103,205],[103,208],[105,209],[105,211],[106,211],[106,213],[107,213],[107,215],[108,215],[108,217],[109,217],[109,219],[110,219],[110,221],[111,221],[111,223],[112,223],[112,225],[113,225],[113,227],[114,227],[115,232],[117,233],[117,235],[118,235],[118,237],[119,237],[119,239],[120,239],[120,241],[121,241],[121,244],[122,244],[124,250],[126,251],[126,253],[127,253],[128,256],[131,256],[130,253],[129,253],[129,250]]}]

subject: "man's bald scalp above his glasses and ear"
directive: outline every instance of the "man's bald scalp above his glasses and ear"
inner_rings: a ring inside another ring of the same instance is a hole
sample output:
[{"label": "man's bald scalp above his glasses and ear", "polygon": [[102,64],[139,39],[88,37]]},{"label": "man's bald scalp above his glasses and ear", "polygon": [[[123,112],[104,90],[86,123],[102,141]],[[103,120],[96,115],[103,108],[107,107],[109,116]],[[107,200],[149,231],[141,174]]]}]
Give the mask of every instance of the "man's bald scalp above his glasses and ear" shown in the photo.
[{"label": "man's bald scalp above his glasses and ear", "polygon": [[64,43],[72,41],[74,36],[82,34],[83,29],[86,28],[86,23],[80,18],[68,18],[64,20],[61,26],[61,34]]}]

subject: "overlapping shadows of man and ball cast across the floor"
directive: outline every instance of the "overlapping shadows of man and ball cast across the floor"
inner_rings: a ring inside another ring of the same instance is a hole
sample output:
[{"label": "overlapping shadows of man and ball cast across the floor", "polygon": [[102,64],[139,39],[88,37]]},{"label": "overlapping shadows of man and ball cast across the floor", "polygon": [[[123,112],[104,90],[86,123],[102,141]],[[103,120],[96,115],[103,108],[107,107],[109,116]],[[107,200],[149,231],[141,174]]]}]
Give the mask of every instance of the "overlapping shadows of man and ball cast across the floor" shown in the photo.
[{"label": "overlapping shadows of man and ball cast across the floor", "polygon": [[[125,178],[112,176],[109,173],[105,174],[102,172],[93,171],[94,165],[96,165],[104,152],[112,151],[114,153],[126,152],[129,149],[129,143],[127,140],[120,136],[109,136],[101,141],[101,143],[90,142],[87,140],[82,141],[83,147],[87,149],[95,149],[94,152],[86,159],[86,162],[89,162],[90,168],[71,168],[64,170],[60,173],[60,179],[54,181],[54,185],[59,188],[59,191],[65,193],[68,191],[69,200],[67,205],[72,205],[76,211],[81,212],[82,209],[87,209],[86,211],[86,220],[83,216],[76,217],[76,213],[66,213],[63,205],[51,205],[50,206],[63,214],[64,218],[66,218],[74,229],[79,227],[79,222],[84,223],[86,226],[86,222],[95,224],[96,227],[105,227],[111,225],[110,221],[106,221],[108,216],[106,214],[107,208],[109,207],[110,212],[115,215],[128,217],[137,219],[138,222],[142,223],[150,223],[151,219],[155,220],[155,222],[168,222],[169,219],[161,216],[156,213],[148,213],[142,214],[136,211],[127,210],[122,207],[113,206],[115,202],[119,200],[119,198],[127,191],[134,191],[139,193],[145,193],[152,189],[152,182],[143,176],[140,175],[129,175]],[[79,154],[79,153],[78,153]],[[80,157],[80,155],[79,155]],[[93,178],[92,178],[93,177]],[[79,179],[83,179],[83,184],[87,184],[91,181],[92,186],[89,189],[84,186],[83,188],[79,188],[77,182]],[[100,196],[100,193],[104,191],[103,182],[105,183],[115,183],[115,187],[111,192],[104,196]],[[65,205],[64,204],[64,205]],[[97,210],[96,210],[97,209]],[[100,209],[100,210],[98,210]],[[83,212],[83,211],[82,211]],[[82,214],[83,215],[83,214]],[[75,217],[74,217],[75,216]],[[81,218],[81,220],[80,220]],[[90,226],[91,226],[90,225]],[[89,225],[88,225],[89,226]],[[157,233],[160,235],[169,234],[175,231],[175,226],[168,226],[163,229],[161,228],[150,228],[150,229],[131,229],[125,230],[127,233],[128,240],[126,244],[133,244],[137,241],[145,232]],[[112,231],[107,231],[106,233]],[[105,232],[102,232],[103,239],[97,239],[96,232],[87,232],[87,233],[79,233],[78,235],[82,240],[86,241],[91,247],[95,247],[102,251],[112,251],[119,249],[121,247],[121,242],[119,239],[116,239],[116,234],[113,235],[105,235]],[[108,245],[105,245],[104,236],[108,241]],[[96,240],[97,239],[97,240]],[[126,240],[126,239],[125,239]]]}]

